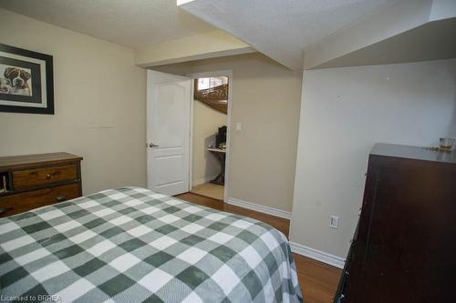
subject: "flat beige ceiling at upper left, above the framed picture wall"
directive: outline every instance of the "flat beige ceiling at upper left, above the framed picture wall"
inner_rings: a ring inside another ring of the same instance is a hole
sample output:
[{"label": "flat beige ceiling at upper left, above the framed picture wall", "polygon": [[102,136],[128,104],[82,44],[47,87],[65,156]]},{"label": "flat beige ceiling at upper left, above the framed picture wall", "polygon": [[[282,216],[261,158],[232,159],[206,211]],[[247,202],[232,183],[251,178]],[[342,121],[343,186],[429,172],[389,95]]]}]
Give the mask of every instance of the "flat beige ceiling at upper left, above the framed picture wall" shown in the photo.
[{"label": "flat beige ceiling at upper left, above the framed picture wall", "polygon": [[175,0],[0,0],[0,7],[132,48],[215,29]]}]

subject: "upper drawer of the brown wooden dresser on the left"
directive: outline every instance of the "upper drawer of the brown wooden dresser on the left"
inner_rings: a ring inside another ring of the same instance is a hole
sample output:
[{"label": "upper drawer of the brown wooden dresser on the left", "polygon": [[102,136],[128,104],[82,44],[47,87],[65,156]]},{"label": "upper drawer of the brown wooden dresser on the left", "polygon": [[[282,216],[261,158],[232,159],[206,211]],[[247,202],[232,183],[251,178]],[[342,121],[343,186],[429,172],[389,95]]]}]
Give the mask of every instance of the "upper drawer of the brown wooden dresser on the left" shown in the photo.
[{"label": "upper drawer of the brown wooden dresser on the left", "polygon": [[61,167],[40,167],[13,172],[13,187],[34,187],[67,180],[76,180],[78,169],[75,164]]}]

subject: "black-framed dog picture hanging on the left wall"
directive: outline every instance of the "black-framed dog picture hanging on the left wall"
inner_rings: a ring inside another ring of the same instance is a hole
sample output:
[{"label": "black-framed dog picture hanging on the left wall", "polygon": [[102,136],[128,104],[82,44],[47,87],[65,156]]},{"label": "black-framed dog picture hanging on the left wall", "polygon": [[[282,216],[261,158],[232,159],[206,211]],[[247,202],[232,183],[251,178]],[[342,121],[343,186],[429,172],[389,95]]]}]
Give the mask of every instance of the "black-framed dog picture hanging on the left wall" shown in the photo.
[{"label": "black-framed dog picture hanging on the left wall", "polygon": [[0,44],[0,112],[54,115],[52,56]]}]

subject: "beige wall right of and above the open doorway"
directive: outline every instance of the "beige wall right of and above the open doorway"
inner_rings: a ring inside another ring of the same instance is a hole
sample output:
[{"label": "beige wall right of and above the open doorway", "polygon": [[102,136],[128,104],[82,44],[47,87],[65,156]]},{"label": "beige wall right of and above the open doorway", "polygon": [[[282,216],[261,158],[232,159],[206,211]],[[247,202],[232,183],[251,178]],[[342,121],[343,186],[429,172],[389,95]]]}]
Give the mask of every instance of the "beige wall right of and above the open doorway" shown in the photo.
[{"label": "beige wall right of and above the open doorway", "polygon": [[291,211],[302,72],[256,54],[194,61],[154,69],[185,75],[233,71],[228,197]]}]

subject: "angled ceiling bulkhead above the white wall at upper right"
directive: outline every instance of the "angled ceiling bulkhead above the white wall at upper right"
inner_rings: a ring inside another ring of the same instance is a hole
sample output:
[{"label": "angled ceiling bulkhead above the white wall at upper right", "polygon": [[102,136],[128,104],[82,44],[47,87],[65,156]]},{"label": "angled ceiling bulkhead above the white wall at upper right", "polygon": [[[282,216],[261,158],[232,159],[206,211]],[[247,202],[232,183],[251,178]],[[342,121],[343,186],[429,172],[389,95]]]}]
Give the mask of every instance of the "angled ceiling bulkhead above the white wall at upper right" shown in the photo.
[{"label": "angled ceiling bulkhead above the white wall at upper right", "polygon": [[454,0],[399,0],[306,48],[305,69],[456,56]]}]

